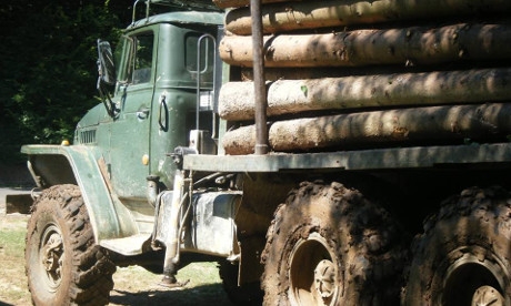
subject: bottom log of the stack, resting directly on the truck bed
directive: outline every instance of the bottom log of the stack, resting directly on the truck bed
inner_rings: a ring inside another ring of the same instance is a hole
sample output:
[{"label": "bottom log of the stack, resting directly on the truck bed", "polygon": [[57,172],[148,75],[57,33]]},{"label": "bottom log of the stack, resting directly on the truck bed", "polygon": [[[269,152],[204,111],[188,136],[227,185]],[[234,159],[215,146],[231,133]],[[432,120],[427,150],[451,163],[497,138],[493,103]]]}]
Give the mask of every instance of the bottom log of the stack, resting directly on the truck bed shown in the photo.
[{"label": "bottom log of the stack, resting directly on the truck bed", "polygon": [[[270,125],[275,152],[303,152],[361,144],[403,144],[412,141],[494,139],[511,134],[511,103],[430,106],[278,121]],[[252,154],[254,125],[224,134],[227,154]]]}]

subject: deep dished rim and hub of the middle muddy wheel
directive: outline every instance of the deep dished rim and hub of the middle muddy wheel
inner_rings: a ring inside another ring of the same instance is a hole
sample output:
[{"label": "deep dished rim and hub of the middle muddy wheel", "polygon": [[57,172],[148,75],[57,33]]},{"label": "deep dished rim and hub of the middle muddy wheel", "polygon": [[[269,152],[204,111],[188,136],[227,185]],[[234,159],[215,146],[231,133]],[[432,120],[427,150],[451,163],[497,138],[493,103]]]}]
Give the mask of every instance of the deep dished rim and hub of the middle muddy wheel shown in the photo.
[{"label": "deep dished rim and hub of the middle muddy wheel", "polygon": [[340,280],[334,256],[318,233],[300,238],[290,254],[290,299],[295,305],[335,305]]}]

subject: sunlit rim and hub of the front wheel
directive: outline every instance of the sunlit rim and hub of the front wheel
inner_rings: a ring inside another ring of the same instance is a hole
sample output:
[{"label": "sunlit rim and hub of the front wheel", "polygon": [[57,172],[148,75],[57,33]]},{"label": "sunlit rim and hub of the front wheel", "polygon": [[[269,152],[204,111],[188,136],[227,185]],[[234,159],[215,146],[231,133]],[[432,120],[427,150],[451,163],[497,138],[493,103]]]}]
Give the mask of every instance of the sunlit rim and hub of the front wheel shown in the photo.
[{"label": "sunlit rim and hub of the front wheel", "polygon": [[62,264],[64,259],[62,234],[60,228],[51,224],[41,236],[39,248],[39,263],[41,265],[42,277],[50,293],[54,293],[62,279]]}]

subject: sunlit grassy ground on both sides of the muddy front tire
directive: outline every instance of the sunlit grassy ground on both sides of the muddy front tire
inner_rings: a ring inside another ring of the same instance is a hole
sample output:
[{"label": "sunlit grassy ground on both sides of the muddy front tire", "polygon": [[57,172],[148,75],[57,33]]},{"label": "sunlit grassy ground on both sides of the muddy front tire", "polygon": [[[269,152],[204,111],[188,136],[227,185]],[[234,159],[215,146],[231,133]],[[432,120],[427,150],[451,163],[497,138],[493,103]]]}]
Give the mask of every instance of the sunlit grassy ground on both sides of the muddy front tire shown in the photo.
[{"label": "sunlit grassy ground on both sides of the muddy front tire", "polygon": [[[24,275],[27,216],[0,216],[0,305],[31,305]],[[110,305],[231,305],[218,276],[217,263],[194,263],[178,273],[188,285],[168,289],[161,275],[138,266],[118,268]]]}]

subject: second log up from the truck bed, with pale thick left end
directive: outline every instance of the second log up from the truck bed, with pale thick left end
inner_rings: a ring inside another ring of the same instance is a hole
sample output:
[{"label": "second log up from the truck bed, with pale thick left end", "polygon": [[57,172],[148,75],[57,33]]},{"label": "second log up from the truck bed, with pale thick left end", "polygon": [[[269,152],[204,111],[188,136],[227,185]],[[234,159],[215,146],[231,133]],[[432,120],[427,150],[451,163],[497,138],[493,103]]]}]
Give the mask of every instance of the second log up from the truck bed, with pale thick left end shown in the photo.
[{"label": "second log up from the truck bed, with pale thick left end", "polygon": [[[511,101],[511,68],[394,73],[312,80],[279,80],[268,85],[268,115],[310,111]],[[252,82],[226,83],[219,114],[253,120]]]}]

